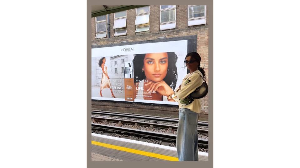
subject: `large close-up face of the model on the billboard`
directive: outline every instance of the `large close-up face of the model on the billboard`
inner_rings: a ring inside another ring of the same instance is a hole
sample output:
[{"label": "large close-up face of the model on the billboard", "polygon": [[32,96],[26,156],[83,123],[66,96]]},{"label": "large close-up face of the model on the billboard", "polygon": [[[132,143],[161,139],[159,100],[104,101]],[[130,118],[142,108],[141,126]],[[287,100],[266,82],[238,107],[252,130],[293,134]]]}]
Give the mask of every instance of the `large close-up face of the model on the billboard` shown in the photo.
[{"label": "large close-up face of the model on the billboard", "polygon": [[168,70],[168,54],[167,53],[150,53],[144,58],[144,72],[146,80],[153,82],[162,81]]}]

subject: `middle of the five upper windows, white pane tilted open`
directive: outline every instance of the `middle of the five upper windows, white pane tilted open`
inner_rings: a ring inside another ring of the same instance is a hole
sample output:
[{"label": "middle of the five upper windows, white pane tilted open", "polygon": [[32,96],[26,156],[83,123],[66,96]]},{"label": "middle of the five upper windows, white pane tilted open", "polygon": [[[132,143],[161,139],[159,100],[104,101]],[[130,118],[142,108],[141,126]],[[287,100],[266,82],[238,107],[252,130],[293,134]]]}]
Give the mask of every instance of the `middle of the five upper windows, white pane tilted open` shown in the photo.
[{"label": "middle of the five upper windows, white pane tilted open", "polygon": [[135,25],[136,30],[135,32],[146,32],[150,29],[150,22],[149,22],[149,16],[150,16],[150,6],[146,7],[139,7],[135,9]]}]

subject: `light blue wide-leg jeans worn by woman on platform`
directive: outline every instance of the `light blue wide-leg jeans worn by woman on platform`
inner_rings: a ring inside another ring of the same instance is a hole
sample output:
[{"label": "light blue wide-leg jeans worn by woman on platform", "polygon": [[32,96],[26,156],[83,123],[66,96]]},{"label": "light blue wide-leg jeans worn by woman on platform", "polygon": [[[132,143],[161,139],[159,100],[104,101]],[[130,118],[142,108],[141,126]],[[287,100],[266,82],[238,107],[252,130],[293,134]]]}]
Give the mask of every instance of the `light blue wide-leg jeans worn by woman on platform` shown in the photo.
[{"label": "light blue wide-leg jeans worn by woman on platform", "polygon": [[198,161],[198,113],[179,109],[176,147],[179,161]]}]

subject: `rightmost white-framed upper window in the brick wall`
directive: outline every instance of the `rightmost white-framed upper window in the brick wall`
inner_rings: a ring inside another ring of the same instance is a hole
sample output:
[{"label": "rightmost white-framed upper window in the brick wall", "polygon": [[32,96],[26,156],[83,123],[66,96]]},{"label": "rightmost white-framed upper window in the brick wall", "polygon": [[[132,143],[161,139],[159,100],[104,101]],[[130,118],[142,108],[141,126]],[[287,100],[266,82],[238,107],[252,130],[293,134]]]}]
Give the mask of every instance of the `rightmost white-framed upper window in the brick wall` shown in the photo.
[{"label": "rightmost white-framed upper window in the brick wall", "polygon": [[206,24],[206,5],[187,6],[187,26]]}]

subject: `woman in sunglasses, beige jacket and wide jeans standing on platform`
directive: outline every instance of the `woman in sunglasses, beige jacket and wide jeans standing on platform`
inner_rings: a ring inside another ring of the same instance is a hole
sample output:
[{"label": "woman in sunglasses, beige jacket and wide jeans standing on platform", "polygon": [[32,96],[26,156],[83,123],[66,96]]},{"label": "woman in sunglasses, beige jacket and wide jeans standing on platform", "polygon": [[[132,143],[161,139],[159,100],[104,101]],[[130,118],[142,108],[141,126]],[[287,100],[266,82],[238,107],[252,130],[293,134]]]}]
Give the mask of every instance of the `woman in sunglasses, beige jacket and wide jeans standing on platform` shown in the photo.
[{"label": "woman in sunglasses, beige jacket and wide jeans standing on platform", "polygon": [[200,77],[206,77],[200,67],[201,57],[196,52],[187,53],[184,63],[190,71],[182,84],[169,98],[179,99],[179,121],[177,129],[176,147],[179,161],[198,161],[198,115],[201,109],[200,99],[193,99],[189,95],[203,82]]}]

